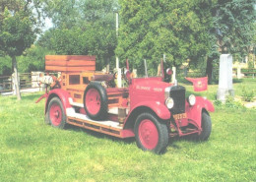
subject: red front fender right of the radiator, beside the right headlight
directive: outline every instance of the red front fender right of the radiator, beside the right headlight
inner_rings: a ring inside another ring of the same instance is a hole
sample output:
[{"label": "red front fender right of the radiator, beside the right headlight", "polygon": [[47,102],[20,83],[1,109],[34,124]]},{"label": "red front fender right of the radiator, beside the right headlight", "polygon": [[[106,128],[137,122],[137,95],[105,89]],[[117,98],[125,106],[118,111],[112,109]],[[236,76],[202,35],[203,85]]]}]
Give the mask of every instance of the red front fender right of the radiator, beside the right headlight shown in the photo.
[{"label": "red front fender right of the radiator, beside the right headlight", "polygon": [[196,96],[196,104],[190,106],[186,102],[186,114],[188,119],[193,121],[199,128],[201,128],[201,118],[202,118],[202,110],[205,109],[208,112],[214,112],[215,107],[213,103],[201,96]]}]

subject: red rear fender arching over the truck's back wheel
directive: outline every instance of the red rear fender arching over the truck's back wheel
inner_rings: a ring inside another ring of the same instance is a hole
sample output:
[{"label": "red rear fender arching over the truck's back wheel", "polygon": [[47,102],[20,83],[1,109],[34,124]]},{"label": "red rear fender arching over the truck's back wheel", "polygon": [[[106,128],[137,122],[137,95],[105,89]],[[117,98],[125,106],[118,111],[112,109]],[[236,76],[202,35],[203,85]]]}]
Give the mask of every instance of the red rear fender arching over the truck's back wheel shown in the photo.
[{"label": "red rear fender arching over the truck's back wheel", "polygon": [[45,110],[44,112],[46,113],[47,111],[47,107],[48,107],[48,102],[50,101],[50,99],[54,96],[57,96],[60,98],[62,104],[63,104],[63,107],[64,107],[64,111],[66,112],[66,109],[67,108],[70,108],[72,107],[69,103],[69,97],[70,94],[68,93],[68,91],[64,91],[64,90],[60,90],[60,89],[55,89],[55,90],[52,90],[52,91],[49,91],[48,92],[48,95],[47,95],[47,98],[46,98],[46,101],[45,101]]}]

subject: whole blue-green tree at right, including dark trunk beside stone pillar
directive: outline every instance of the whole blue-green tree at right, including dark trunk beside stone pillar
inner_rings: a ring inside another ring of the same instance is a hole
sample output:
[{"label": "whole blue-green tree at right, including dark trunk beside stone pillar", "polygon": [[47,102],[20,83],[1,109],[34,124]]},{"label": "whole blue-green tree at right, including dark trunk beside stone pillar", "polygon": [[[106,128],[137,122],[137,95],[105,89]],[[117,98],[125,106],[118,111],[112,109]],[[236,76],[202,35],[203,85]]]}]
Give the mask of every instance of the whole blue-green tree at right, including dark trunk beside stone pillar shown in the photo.
[{"label": "whole blue-green tree at right, including dark trunk beside stone pillar", "polygon": [[212,7],[213,24],[209,27],[211,49],[206,73],[212,81],[213,63],[220,54],[243,57],[249,53],[255,30],[255,0],[217,0]]}]

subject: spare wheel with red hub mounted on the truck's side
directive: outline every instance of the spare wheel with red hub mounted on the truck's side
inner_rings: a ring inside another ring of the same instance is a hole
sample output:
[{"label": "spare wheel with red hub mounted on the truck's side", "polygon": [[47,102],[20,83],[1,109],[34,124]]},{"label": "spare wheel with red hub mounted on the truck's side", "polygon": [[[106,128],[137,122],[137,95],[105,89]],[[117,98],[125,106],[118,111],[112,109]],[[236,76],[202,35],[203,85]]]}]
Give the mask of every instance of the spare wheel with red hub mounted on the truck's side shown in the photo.
[{"label": "spare wheel with red hub mounted on the truck's side", "polygon": [[91,83],[84,92],[84,108],[87,115],[94,120],[103,120],[107,117],[107,94],[98,83]]}]

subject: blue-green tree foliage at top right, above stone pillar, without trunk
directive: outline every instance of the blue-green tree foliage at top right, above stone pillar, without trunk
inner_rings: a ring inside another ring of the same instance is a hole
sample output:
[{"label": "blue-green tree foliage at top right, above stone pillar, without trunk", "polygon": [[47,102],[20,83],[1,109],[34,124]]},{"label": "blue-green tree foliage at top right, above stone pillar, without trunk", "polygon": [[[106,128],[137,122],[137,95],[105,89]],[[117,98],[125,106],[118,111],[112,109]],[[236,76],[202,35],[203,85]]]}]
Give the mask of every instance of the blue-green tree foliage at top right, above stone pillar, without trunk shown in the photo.
[{"label": "blue-green tree foliage at top right, above stone pillar, without trunk", "polygon": [[255,34],[255,0],[219,0],[215,35],[222,53],[247,55]]}]

